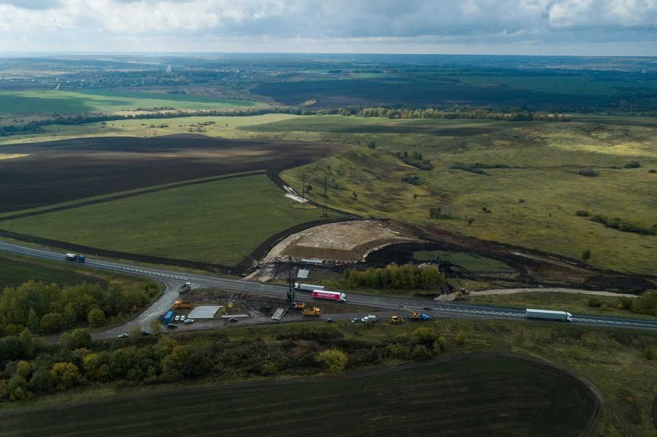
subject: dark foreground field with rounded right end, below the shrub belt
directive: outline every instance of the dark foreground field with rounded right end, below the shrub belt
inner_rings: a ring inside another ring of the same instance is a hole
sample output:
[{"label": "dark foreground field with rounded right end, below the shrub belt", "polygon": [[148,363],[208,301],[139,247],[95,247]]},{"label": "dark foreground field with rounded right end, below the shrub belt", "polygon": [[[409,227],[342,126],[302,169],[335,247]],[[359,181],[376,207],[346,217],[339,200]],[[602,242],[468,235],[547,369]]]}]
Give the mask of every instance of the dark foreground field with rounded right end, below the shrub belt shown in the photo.
[{"label": "dark foreground field with rounded right end, below the shrub belt", "polygon": [[360,378],[181,390],[12,414],[3,416],[3,436],[381,436],[390,429],[579,436],[593,408],[587,391],[543,365],[473,356]]}]

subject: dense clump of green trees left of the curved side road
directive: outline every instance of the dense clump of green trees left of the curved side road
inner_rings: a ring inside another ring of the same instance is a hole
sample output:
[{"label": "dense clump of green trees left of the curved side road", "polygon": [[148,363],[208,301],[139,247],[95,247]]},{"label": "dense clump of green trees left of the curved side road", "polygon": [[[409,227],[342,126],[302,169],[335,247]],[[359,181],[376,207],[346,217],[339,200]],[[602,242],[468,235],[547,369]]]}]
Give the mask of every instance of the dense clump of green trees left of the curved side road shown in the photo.
[{"label": "dense clump of green trees left of the curved side road", "polygon": [[80,323],[103,326],[107,317],[143,308],[158,291],[155,281],[132,287],[113,282],[103,289],[98,283],[61,288],[30,280],[15,289],[7,287],[0,295],[1,334],[15,336],[25,328],[50,334]]}]

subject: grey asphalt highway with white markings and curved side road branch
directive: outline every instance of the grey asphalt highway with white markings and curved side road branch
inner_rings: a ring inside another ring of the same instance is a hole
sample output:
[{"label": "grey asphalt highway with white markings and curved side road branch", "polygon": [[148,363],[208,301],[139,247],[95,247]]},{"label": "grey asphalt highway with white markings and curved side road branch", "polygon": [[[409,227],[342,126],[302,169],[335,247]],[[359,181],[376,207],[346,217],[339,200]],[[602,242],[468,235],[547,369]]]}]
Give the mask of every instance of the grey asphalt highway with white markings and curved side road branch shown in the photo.
[{"label": "grey asphalt highway with white markings and curved side road branch", "polygon": [[[26,256],[35,256],[41,259],[48,259],[66,263],[64,261],[64,254],[60,252],[51,252],[49,250],[42,250],[31,248],[28,246],[20,246],[13,243],[5,243],[0,241],[0,250],[14,254],[21,254]],[[70,261],[69,261],[70,262]],[[243,280],[218,278],[216,276],[209,276],[204,274],[194,274],[187,272],[176,272],[175,270],[168,269],[152,269],[148,267],[140,267],[138,265],[129,265],[123,263],[115,263],[113,261],[96,261],[87,258],[85,265],[96,269],[111,270],[113,272],[121,272],[127,274],[135,274],[139,276],[146,276],[155,278],[164,283],[165,290],[161,297],[149,308],[146,308],[142,314],[136,319],[125,323],[124,325],[116,328],[111,328],[103,332],[95,332],[92,336],[94,339],[110,338],[117,336],[122,332],[127,332],[140,323],[141,326],[148,326],[150,321],[157,319],[164,315],[173,303],[179,299],[178,288],[184,282],[192,282],[194,287],[213,287],[227,291],[237,291],[240,293],[253,293],[258,295],[266,295],[276,297],[280,300],[285,300],[287,295],[287,287],[272,284],[263,284],[260,282],[246,282]],[[397,314],[399,305],[407,306],[418,313],[426,313],[431,317],[458,317],[458,318],[486,318],[486,319],[508,319],[508,320],[523,320],[525,319],[524,310],[515,308],[500,308],[491,306],[474,306],[453,303],[440,303],[434,300],[422,300],[409,297],[389,297],[381,295],[365,295],[358,293],[346,293],[348,304],[357,306],[366,306],[372,308],[381,308],[381,310],[391,310],[390,314]],[[310,293],[304,291],[297,292],[297,299],[302,302],[311,302],[312,297]],[[433,310],[422,310],[422,306],[430,306]],[[400,315],[403,315],[403,310]],[[558,322],[548,322],[558,323]],[[639,328],[647,330],[657,330],[657,320],[647,319],[625,319],[621,317],[600,317],[590,315],[573,315],[572,323],[576,325],[589,325],[589,326],[606,326],[612,328]],[[192,323],[193,325],[193,323]],[[192,325],[179,326],[179,330],[193,330]]]}]

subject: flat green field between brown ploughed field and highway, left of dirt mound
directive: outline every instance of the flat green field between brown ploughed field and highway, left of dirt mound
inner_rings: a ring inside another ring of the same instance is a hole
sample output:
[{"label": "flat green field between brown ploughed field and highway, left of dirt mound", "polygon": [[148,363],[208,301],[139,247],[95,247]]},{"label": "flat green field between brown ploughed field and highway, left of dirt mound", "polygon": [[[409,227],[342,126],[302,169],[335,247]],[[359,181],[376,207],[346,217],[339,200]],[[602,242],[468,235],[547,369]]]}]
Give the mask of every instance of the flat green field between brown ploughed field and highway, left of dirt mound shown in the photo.
[{"label": "flat green field between brown ploughed field and highway, left of dirt mound", "polygon": [[319,220],[267,176],[246,176],[45,213],[6,230],[83,246],[235,265],[289,227]]}]

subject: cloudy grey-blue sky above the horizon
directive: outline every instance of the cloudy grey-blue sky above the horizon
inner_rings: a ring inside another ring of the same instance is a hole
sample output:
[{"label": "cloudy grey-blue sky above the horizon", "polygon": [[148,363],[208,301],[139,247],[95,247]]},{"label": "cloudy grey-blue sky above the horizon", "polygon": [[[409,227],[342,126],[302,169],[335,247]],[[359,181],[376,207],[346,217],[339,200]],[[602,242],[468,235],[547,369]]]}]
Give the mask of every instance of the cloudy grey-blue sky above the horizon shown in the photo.
[{"label": "cloudy grey-blue sky above the horizon", "polygon": [[657,55],[657,0],[0,0],[0,51]]}]

